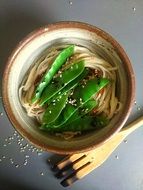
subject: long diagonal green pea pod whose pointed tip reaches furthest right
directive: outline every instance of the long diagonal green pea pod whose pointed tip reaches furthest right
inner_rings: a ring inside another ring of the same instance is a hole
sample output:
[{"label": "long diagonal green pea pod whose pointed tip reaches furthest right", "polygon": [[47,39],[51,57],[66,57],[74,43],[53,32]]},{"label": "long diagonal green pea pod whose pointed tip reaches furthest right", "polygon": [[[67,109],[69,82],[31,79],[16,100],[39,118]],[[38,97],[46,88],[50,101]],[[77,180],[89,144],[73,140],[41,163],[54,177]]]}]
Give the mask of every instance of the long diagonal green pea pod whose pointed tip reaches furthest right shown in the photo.
[{"label": "long diagonal green pea pod whose pointed tip reaches furthest right", "polygon": [[92,98],[93,95],[99,92],[108,83],[108,79],[100,78],[89,80],[84,88],[78,86],[73,94],[73,98],[77,101],[77,107],[74,111],[69,111],[69,107],[71,107],[71,105],[68,103],[61,112],[59,118],[55,121],[55,123],[53,123],[53,127],[60,127],[65,124],[68,119],[79,109],[79,107],[83,106],[88,100],[90,100],[90,98]]}]

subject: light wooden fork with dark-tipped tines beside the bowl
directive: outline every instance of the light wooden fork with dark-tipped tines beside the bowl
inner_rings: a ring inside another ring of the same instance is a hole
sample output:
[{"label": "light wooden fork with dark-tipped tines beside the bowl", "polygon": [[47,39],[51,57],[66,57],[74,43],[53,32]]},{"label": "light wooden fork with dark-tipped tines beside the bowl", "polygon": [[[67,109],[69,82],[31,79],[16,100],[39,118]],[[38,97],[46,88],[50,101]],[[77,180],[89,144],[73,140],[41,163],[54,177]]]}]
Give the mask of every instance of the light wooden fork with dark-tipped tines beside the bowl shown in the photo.
[{"label": "light wooden fork with dark-tipped tines beside the bowl", "polygon": [[69,186],[99,167],[117,148],[122,140],[141,125],[143,125],[143,116],[130,123],[126,128],[122,129],[98,148],[89,152],[66,156],[55,165],[57,169],[56,176],[59,178],[65,177],[61,184],[64,187]]}]

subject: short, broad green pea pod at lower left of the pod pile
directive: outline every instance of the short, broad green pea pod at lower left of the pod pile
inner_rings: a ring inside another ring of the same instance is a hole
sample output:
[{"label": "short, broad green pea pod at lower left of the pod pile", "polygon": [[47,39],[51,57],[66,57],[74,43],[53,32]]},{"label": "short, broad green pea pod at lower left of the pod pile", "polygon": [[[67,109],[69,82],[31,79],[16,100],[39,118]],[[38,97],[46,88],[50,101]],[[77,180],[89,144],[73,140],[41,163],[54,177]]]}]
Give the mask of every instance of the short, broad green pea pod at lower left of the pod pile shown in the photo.
[{"label": "short, broad green pea pod at lower left of the pod pile", "polygon": [[67,98],[68,93],[59,96],[54,103],[51,103],[48,106],[42,118],[43,123],[49,124],[58,118],[66,104]]}]

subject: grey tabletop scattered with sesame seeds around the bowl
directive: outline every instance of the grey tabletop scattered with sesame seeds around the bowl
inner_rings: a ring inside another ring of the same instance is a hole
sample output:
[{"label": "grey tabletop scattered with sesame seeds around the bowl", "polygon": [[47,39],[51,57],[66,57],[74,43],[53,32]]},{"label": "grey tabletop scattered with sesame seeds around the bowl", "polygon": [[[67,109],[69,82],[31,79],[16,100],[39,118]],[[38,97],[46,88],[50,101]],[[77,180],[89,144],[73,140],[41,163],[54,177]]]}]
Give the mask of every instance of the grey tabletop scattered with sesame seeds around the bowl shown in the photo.
[{"label": "grey tabletop scattered with sesame seeds around the bowl", "polygon": [[[142,0],[0,0],[0,81],[7,57],[19,40],[40,26],[63,20],[96,25],[122,45],[136,75],[136,105],[130,120],[140,116],[143,110]],[[63,189],[47,164],[52,154],[41,153],[14,133],[1,98],[0,112],[3,113],[0,115],[0,189]],[[123,142],[101,167],[67,189],[143,190],[142,127],[127,137],[127,143]]]}]

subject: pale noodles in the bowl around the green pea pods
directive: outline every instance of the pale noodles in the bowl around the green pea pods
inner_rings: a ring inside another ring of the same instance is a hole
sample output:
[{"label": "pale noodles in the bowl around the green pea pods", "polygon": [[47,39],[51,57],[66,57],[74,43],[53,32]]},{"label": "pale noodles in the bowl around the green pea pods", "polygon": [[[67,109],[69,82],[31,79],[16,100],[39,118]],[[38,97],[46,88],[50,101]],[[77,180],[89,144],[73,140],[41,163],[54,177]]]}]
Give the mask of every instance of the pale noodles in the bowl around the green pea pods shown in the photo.
[{"label": "pale noodles in the bowl around the green pea pods", "polygon": [[[27,115],[37,119],[39,124],[42,124],[42,116],[45,112],[45,108],[41,107],[38,102],[32,103],[31,99],[42,76],[50,68],[54,59],[63,48],[65,48],[65,46],[45,50],[43,54],[32,64],[19,88],[19,98],[22,106],[25,108]],[[84,60],[85,67],[92,71],[89,79],[95,77],[110,79],[111,82],[107,87],[104,87],[103,90],[93,97],[98,100],[98,106],[93,110],[93,112],[96,115],[104,114],[108,119],[111,119],[121,108],[121,103],[115,94],[117,67],[113,67],[107,60],[104,60],[96,52],[93,53],[85,47],[75,46],[74,52],[75,53],[62,66],[56,76],[60,75],[60,73],[68,68],[70,64]],[[65,138],[69,138],[73,137],[75,134],[77,134],[77,132],[69,131],[60,135],[63,135]]]}]

